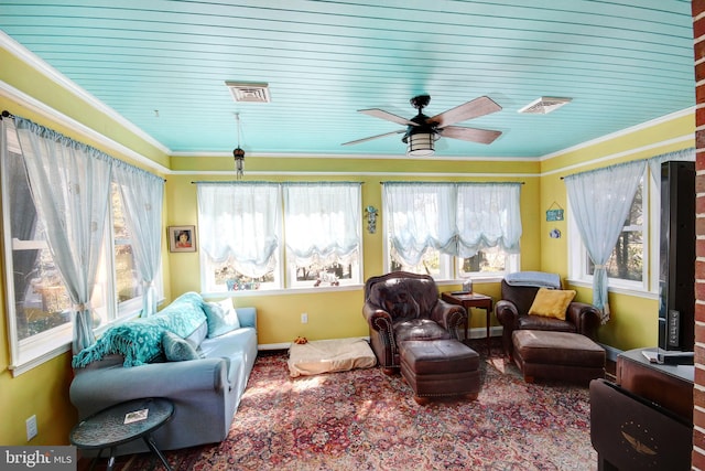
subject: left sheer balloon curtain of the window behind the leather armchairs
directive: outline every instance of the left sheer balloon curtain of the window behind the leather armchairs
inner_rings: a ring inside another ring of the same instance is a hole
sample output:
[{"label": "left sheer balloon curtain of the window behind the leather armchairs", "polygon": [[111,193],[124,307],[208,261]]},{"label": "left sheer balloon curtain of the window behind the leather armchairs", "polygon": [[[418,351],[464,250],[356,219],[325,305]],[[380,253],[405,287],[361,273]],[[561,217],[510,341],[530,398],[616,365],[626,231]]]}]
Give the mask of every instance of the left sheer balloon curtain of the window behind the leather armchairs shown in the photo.
[{"label": "left sheer balloon curtain of the window behind the leather armchairs", "polygon": [[447,183],[386,182],[384,218],[398,256],[416,265],[429,248],[456,247],[456,189]]}]

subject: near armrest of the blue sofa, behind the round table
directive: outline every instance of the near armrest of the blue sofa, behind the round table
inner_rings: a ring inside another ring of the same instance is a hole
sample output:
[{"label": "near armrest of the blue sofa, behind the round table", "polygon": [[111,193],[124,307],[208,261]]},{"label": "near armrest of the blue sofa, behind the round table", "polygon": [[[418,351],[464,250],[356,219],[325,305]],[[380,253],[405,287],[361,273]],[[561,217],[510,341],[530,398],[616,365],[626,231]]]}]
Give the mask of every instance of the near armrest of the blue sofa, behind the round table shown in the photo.
[{"label": "near armrest of the blue sofa, behind the round table", "polygon": [[223,395],[224,389],[229,388],[227,375],[225,358],[76,370],[69,396],[83,418],[113,404],[141,397],[178,399],[194,392]]}]

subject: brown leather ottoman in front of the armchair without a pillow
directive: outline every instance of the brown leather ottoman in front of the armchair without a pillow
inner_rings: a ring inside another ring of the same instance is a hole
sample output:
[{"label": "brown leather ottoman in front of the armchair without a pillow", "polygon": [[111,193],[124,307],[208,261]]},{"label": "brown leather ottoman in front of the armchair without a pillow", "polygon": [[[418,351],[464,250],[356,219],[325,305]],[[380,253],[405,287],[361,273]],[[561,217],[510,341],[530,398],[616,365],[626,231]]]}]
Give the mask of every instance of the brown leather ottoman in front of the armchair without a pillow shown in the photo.
[{"label": "brown leather ottoman in front of the armchair without a pillow", "polygon": [[416,403],[453,396],[477,399],[480,360],[469,346],[457,340],[410,340],[399,351],[401,374]]}]

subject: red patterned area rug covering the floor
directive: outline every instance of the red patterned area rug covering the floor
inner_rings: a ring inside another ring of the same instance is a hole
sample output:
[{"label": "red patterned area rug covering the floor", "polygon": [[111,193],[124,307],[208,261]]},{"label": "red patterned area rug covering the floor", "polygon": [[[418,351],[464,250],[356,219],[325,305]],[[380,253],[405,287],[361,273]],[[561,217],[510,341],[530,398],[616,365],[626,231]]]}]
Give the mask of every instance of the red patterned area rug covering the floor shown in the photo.
[{"label": "red patterned area rug covering the floor", "polygon": [[[228,438],[167,451],[174,470],[595,470],[586,387],[525,384],[499,345],[476,402],[419,406],[375,367],[290,378],[286,354],[258,357]],[[149,454],[119,462],[150,465]]]}]

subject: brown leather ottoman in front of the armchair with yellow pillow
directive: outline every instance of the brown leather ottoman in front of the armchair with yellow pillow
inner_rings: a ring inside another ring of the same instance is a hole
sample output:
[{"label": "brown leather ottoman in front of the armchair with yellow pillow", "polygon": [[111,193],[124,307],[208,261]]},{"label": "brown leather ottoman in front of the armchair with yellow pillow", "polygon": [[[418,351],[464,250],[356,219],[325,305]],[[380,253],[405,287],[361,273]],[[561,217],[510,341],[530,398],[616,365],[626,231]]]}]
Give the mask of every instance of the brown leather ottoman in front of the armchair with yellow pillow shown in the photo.
[{"label": "brown leather ottoman in front of the armchair with yellow pillow", "polygon": [[535,378],[589,384],[605,377],[605,350],[578,333],[517,330],[514,363],[527,383]]}]

